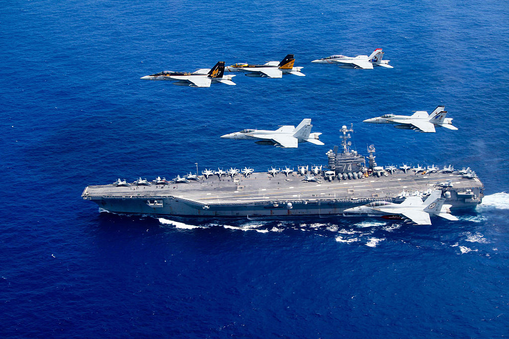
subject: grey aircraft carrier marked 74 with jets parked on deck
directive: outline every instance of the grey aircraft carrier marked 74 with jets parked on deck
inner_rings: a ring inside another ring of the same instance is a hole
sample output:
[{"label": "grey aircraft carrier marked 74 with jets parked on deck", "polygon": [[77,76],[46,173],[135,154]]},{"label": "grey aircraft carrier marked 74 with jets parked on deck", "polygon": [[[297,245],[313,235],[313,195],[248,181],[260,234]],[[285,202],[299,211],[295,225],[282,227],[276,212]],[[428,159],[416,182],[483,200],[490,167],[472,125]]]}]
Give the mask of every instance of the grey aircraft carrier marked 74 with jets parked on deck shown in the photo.
[{"label": "grey aircraft carrier marked 74 with jets parked on deck", "polygon": [[353,130],[343,126],[340,131],[343,149],[329,150],[326,170],[316,176],[306,177],[298,171],[211,175],[150,186],[88,186],[81,196],[116,213],[219,218],[342,215],[347,208],[374,201],[400,203],[410,195],[425,198],[433,189],[442,190],[451,209],[475,207],[484,197],[483,183],[475,172],[451,167],[383,168],[375,163],[373,145],[368,148],[369,156],[363,157],[347,141]]}]

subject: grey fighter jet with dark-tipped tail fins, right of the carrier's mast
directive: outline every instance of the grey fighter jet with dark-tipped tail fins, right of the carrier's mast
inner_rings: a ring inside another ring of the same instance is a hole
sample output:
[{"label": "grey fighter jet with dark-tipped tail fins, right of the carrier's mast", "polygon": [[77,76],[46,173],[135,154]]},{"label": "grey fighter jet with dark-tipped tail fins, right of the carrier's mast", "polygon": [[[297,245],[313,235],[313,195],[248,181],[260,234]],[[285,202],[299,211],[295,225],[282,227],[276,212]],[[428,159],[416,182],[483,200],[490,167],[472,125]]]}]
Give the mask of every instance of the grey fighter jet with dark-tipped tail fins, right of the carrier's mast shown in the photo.
[{"label": "grey fighter jet with dark-tipped tail fins, right of the carrier's mast", "polygon": [[435,132],[435,125],[445,127],[449,130],[457,130],[453,126],[453,119],[446,118],[447,112],[445,106],[438,106],[428,115],[427,111],[416,111],[412,115],[384,114],[371,119],[365,119],[364,122],[370,124],[392,124],[395,128],[402,130],[414,130],[418,132]]}]

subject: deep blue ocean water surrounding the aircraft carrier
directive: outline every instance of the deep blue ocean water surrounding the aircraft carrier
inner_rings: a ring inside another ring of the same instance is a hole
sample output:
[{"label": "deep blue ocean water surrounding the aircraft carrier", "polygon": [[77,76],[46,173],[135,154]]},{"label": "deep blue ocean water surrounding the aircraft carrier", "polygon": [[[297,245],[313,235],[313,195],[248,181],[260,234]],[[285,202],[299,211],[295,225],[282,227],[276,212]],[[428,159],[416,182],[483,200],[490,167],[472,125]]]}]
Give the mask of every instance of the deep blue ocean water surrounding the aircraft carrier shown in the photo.
[{"label": "deep blue ocean water surrounding the aircraft carrier", "polygon": [[[499,1],[4,1],[3,337],[509,334],[509,7]],[[394,69],[310,60],[385,51]],[[139,77],[294,53],[306,77]],[[444,104],[458,131],[361,120]],[[219,139],[313,119],[325,146]],[[338,129],[381,165],[472,167],[483,206],[432,226],[98,213],[87,184],[325,163]]]}]

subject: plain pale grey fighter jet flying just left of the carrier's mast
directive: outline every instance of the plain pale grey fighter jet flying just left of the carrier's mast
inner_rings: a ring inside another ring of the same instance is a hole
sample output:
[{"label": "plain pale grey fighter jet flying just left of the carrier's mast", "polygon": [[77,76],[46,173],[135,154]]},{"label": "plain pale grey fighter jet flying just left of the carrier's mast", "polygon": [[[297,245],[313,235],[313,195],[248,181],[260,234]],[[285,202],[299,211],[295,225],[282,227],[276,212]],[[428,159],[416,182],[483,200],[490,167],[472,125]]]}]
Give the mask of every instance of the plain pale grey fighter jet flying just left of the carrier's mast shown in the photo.
[{"label": "plain pale grey fighter jet flying just left of the carrier's mast", "polygon": [[318,140],[322,133],[310,133],[311,119],[303,119],[297,128],[295,126],[281,126],[275,131],[266,130],[243,130],[240,132],[225,134],[223,139],[255,139],[259,145],[274,145],[281,148],[296,148],[299,142],[310,142],[315,145],[323,145]]}]

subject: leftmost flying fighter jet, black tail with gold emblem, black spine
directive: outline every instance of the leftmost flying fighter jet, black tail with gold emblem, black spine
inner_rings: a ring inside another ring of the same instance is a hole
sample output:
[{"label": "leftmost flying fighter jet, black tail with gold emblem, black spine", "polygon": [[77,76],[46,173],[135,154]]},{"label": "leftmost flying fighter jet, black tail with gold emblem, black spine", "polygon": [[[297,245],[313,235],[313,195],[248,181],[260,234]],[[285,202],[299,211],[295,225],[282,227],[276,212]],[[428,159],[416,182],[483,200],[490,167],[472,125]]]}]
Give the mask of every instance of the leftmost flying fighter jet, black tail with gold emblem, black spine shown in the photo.
[{"label": "leftmost flying fighter jet, black tail with gold emblem, black spine", "polygon": [[170,80],[174,85],[189,87],[210,87],[211,83],[236,85],[235,75],[224,75],[224,61],[219,61],[212,69],[202,68],[193,73],[163,71],[141,77],[142,80]]}]

